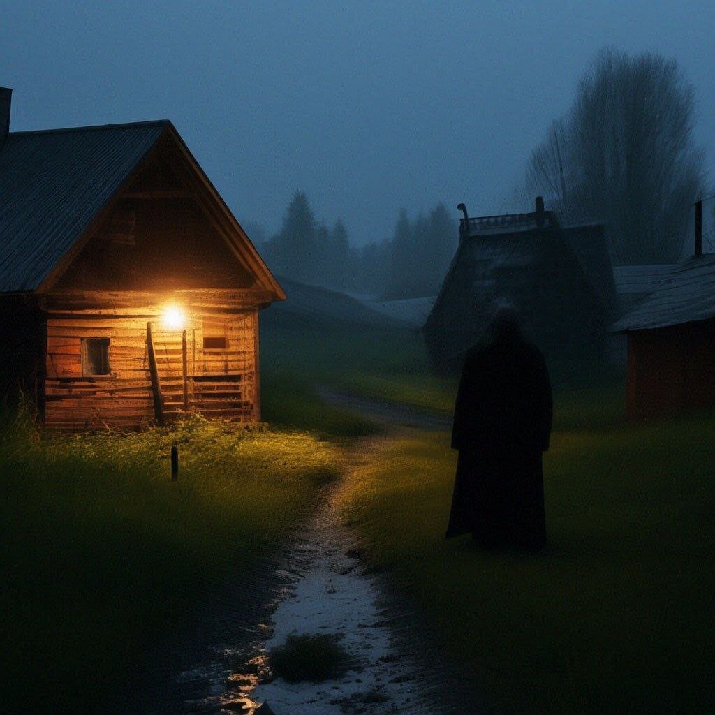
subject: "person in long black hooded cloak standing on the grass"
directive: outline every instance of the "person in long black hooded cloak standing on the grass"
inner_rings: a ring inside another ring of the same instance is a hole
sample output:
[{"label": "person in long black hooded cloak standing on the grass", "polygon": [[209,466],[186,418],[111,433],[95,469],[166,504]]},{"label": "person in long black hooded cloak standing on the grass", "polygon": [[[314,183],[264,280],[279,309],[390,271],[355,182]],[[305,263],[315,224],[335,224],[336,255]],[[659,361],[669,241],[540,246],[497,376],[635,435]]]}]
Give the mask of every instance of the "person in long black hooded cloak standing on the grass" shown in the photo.
[{"label": "person in long black hooded cloak standing on the grass", "polygon": [[471,532],[485,548],[546,544],[541,456],[552,422],[551,383],[541,351],[516,312],[502,309],[490,339],[467,354],[455,403],[459,450],[446,538]]}]

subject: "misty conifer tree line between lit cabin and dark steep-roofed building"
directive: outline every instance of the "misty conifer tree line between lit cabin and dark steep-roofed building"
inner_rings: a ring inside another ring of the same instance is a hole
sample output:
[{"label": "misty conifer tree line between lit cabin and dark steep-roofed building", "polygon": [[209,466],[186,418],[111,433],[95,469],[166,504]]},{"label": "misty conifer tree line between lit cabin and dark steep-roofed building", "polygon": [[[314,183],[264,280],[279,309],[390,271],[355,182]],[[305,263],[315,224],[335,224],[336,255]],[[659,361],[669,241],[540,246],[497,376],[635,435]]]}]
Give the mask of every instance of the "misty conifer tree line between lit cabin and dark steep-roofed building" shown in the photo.
[{"label": "misty conifer tree line between lit cabin and dark steep-roofed building", "polygon": [[456,222],[444,204],[410,220],[405,209],[391,237],[356,246],[337,219],[331,227],[317,220],[302,191],[293,194],[280,232],[252,237],[272,272],[312,285],[385,299],[435,295],[458,243]]}]

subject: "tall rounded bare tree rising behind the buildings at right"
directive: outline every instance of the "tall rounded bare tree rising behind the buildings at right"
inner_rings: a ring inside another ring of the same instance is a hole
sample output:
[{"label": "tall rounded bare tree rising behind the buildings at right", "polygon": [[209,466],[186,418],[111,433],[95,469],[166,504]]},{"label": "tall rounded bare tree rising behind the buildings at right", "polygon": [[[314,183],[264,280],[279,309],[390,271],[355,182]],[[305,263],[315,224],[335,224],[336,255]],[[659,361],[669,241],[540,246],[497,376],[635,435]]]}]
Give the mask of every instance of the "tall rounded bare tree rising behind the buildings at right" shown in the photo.
[{"label": "tall rounded bare tree rising behind the buildings at right", "polygon": [[531,154],[526,190],[562,222],[604,222],[616,264],[676,262],[701,191],[694,91],[674,59],[601,51]]}]

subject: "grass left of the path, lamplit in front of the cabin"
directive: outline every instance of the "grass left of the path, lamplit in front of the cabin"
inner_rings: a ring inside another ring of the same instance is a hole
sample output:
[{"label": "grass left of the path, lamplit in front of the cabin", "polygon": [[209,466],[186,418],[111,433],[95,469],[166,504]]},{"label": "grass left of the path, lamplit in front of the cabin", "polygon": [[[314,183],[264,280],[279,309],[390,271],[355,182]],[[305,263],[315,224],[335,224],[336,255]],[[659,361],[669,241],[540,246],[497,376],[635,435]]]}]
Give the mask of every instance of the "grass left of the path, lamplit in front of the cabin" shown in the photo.
[{"label": "grass left of the path, lamplit in front of the cabin", "polygon": [[[169,448],[179,444],[179,480]],[[307,433],[0,433],[3,705],[91,711],[217,591],[251,577],[332,478]],[[110,708],[111,709],[111,708]]]}]

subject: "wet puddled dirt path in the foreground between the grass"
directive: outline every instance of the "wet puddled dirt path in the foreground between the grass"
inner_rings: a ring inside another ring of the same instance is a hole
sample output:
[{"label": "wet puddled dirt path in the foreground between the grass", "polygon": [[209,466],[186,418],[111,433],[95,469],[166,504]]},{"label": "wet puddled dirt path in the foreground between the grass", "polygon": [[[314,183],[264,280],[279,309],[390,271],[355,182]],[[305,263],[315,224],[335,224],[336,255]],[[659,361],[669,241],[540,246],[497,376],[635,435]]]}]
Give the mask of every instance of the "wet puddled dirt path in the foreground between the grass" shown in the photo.
[{"label": "wet puddled dirt path in the foreground between the grass", "polygon": [[[332,489],[337,488],[339,484]],[[187,701],[184,712],[231,709],[250,714],[264,702],[275,715],[452,711],[443,707],[440,692],[445,674],[413,657],[415,638],[405,633],[405,614],[396,613],[379,577],[365,570],[355,539],[337,523],[332,495],[334,491],[325,494],[320,512],[285,551],[280,571],[290,574],[292,583],[277,598],[270,619],[260,625],[256,638],[225,652],[230,662],[217,659],[209,667],[212,692]],[[266,654],[292,633],[335,634],[350,656],[349,669],[317,683],[272,679]],[[243,666],[237,663],[238,650]]]}]

